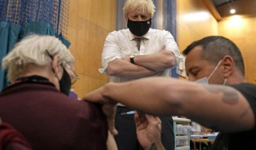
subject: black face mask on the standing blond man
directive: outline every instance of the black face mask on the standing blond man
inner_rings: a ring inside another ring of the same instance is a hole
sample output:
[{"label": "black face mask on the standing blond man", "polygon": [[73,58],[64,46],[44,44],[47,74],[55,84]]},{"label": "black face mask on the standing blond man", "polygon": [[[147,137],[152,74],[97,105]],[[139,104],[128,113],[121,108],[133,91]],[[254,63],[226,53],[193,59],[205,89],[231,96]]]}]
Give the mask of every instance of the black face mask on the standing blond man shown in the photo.
[{"label": "black face mask on the standing blond man", "polygon": [[131,21],[128,18],[127,27],[136,36],[143,36],[151,27],[151,18],[147,21]]}]

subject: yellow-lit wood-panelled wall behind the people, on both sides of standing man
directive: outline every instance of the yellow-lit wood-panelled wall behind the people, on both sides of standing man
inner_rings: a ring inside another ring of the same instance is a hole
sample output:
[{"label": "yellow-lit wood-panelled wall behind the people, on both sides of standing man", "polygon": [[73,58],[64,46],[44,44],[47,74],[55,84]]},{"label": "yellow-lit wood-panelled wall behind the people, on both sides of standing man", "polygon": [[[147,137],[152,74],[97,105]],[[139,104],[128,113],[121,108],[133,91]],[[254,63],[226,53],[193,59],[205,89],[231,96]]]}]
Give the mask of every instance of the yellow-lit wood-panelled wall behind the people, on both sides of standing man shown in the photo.
[{"label": "yellow-lit wood-panelled wall behind the people, on both sides of standing man", "polygon": [[[193,41],[209,35],[230,38],[241,49],[247,81],[255,83],[256,17],[243,18],[242,22],[240,27],[230,27],[228,19],[217,22],[203,0],[177,0],[178,47],[182,52]],[[68,39],[76,58],[75,71],[80,76],[72,88],[79,98],[109,82],[98,68],[105,37],[115,27],[116,0],[70,0]]]}]

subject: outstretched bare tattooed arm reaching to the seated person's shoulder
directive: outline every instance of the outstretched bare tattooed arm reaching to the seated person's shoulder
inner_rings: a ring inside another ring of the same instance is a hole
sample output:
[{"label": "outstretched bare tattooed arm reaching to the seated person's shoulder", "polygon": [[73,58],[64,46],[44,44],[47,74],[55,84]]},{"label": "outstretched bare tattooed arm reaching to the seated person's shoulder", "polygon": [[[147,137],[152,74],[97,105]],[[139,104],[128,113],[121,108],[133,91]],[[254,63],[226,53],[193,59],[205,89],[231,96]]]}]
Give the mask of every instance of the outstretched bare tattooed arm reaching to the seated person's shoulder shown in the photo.
[{"label": "outstretched bare tattooed arm reaching to the seated person's shoulder", "polygon": [[154,115],[183,115],[226,132],[252,129],[255,123],[248,101],[234,88],[168,77],[109,83],[84,99],[102,104],[114,100]]}]

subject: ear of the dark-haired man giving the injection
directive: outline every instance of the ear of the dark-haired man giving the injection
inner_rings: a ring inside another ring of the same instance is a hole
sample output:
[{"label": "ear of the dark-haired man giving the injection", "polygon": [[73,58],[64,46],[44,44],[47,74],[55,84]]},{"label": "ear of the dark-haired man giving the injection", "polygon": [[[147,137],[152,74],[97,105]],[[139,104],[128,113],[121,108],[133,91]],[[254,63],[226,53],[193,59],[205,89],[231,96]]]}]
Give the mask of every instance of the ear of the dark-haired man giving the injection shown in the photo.
[{"label": "ear of the dark-haired man giving the injection", "polygon": [[224,77],[229,77],[234,69],[234,60],[232,57],[226,55],[224,56],[224,58],[222,59],[222,65],[224,66],[224,69],[222,71]]}]

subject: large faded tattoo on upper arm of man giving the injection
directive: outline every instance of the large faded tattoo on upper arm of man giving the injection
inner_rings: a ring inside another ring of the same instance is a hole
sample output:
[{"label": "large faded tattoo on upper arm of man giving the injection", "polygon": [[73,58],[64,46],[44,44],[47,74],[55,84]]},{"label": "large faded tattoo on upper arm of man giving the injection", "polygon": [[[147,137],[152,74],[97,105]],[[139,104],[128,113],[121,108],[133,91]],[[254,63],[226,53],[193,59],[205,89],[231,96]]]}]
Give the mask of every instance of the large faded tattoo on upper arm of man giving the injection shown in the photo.
[{"label": "large faded tattoo on upper arm of man giving the injection", "polygon": [[208,85],[205,87],[211,93],[223,93],[222,101],[226,104],[234,105],[238,103],[238,93],[231,87],[222,85]]}]

